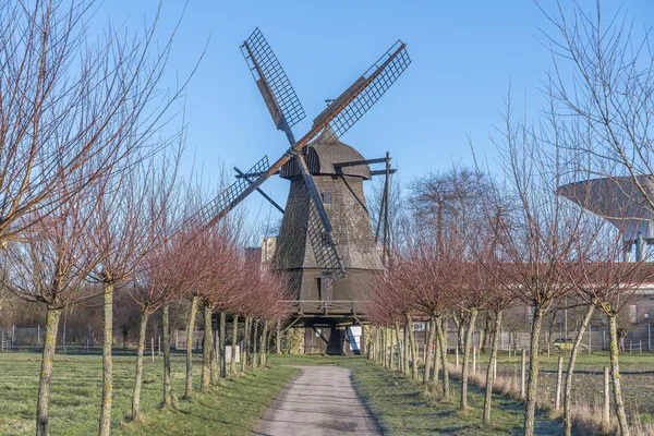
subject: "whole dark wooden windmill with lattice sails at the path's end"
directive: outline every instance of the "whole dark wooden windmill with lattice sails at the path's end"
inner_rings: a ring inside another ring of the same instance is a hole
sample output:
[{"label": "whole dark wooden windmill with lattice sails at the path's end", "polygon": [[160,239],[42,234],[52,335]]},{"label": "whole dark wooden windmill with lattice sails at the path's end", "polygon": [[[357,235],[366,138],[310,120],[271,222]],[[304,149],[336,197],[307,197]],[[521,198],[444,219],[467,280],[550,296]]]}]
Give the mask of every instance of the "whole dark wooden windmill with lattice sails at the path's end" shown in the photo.
[{"label": "whole dark wooden windmill with lattice sails at the path's end", "polygon": [[[289,302],[296,314],[291,325],[334,328],[351,324],[360,315],[355,302],[361,287],[382,268],[363,181],[375,173],[370,164],[385,161],[387,175],[389,164],[388,157],[363,159],[339,137],[409,66],[405,45],[397,41],[314,119],[299,141],[291,128],[305,117],[304,109],[258,28],[243,43],[241,51],[275,126],[286,134],[291,147],[272,165],[264,157],[245,172],[234,168],[237,181],[207,204],[197,219],[213,226],[254,191],[272,202],[259,190],[262,183],[275,174],[290,180],[275,265],[288,272],[289,288],[298,299]],[[343,342],[342,330],[331,339],[322,331],[317,336],[336,347]]]}]

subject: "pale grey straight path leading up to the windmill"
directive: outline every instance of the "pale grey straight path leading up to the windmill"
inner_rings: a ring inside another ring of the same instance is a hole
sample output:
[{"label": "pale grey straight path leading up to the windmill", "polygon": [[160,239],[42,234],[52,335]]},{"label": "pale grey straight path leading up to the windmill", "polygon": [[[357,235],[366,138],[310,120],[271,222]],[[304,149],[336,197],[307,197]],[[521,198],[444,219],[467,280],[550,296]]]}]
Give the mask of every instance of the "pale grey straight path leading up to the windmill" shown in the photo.
[{"label": "pale grey straight path leading up to the windmill", "polygon": [[255,425],[253,435],[379,435],[352,386],[352,373],[338,366],[299,366],[302,374],[283,388]]}]

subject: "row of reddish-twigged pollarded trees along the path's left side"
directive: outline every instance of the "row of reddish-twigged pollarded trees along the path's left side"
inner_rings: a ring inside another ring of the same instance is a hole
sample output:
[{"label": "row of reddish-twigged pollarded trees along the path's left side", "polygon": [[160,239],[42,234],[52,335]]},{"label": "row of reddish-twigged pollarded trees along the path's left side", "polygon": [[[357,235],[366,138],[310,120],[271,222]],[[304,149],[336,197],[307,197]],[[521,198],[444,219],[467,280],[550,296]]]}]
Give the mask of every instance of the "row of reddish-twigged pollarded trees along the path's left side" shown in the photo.
[{"label": "row of reddish-twigged pollarded trees along the path's left side", "polygon": [[[160,311],[164,336],[164,398],[172,405],[170,387],[169,305],[191,301],[186,327],[186,388],[193,392],[193,336],[197,307],[204,319],[201,388],[208,391],[218,382],[218,365],[225,368],[225,324],[216,347],[213,316],[232,314],[233,331],[239,316],[263,329],[245,338],[266,350],[271,329],[284,316],[283,278],[262,268],[258,257],[247,258],[242,249],[242,228],[237,220],[223,220],[214,228],[197,227],[195,204],[198,190],[175,182],[179,152],[140,159],[121,171],[107,173],[86,190],[69,195],[65,203],[20,233],[21,239],[4,247],[8,274],[3,286],[16,295],[47,307],[45,342],[37,403],[37,433],[48,434],[49,392],[61,314],[66,307],[102,301],[102,400],[99,434],[111,428],[112,331],[114,294],[129,294],[141,307],[138,348],[131,419],[141,416],[140,398],[147,320]],[[34,211],[38,214],[39,211]],[[31,218],[31,216],[27,216]],[[124,301],[124,300],[123,300]],[[256,327],[255,327],[256,330]],[[256,348],[256,347],[255,347]],[[232,373],[235,374],[235,340],[232,341]],[[243,350],[250,350],[245,343]],[[264,354],[259,354],[265,356]],[[241,371],[254,363],[243,355]],[[222,377],[227,374],[221,372]]]}]

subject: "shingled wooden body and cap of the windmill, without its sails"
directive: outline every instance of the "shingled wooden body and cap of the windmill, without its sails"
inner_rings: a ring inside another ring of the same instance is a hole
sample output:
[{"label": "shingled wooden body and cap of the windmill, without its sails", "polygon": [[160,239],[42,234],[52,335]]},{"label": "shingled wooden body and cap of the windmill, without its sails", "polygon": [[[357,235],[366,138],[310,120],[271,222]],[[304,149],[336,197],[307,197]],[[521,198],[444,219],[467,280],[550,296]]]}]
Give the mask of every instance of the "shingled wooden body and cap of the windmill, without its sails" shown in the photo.
[{"label": "shingled wooden body and cap of the windmill, without its sails", "polygon": [[287,271],[289,289],[300,301],[364,300],[374,275],[382,270],[382,250],[375,243],[363,192],[363,181],[371,179],[371,169],[367,164],[352,165],[364,161],[364,157],[328,134],[307,145],[305,160],[331,221],[348,276],[334,286],[329,278],[322,277],[308,238],[312,199],[295,160],[280,172],[291,186],[277,238],[275,268]]}]

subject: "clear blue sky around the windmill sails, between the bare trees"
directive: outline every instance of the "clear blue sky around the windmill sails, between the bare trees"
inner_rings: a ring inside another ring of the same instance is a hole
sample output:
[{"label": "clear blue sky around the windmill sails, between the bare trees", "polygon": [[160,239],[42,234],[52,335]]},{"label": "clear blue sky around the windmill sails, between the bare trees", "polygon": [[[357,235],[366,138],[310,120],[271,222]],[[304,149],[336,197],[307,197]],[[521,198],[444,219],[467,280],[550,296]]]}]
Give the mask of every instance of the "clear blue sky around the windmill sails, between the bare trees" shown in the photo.
[{"label": "clear blue sky around the windmill sails, between the bare trees", "polygon": [[[569,2],[564,1],[564,4]],[[583,0],[592,7],[594,1]],[[162,5],[159,33],[170,33],[183,2]],[[553,1],[542,1],[545,8]],[[622,5],[639,25],[654,16],[649,0],[604,1]],[[157,0],[106,0],[94,26],[110,20],[131,29],[150,21]],[[501,123],[509,82],[530,110],[542,105],[541,82],[552,64],[538,26],[549,28],[531,0],[506,1],[208,1],[190,0],[177,35],[164,86],[174,86],[205,57],[186,90],[189,171],[192,155],[205,178],[218,168],[250,168],[267,154],[288,148],[275,130],[239,50],[259,26],[290,77],[307,117],[296,137],[325,107],[397,39],[408,45],[412,65],[341,140],[368,158],[390,150],[398,177],[408,182],[452,162],[472,162],[475,153],[491,162],[489,134]],[[492,167],[493,168],[493,167]],[[288,184],[270,180],[264,190],[283,205]],[[247,202],[253,216],[269,211],[258,196]],[[277,219],[272,213],[272,218]]]}]

